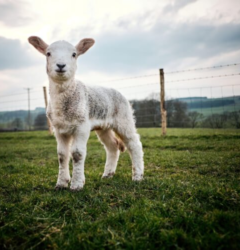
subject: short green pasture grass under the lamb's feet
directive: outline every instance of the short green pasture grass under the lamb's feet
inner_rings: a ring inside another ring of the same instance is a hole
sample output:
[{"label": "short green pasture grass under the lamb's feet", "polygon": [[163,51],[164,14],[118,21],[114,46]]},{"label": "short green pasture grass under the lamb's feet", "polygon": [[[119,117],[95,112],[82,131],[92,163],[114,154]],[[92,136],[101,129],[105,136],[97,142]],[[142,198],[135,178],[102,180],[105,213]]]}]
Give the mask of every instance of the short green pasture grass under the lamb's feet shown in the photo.
[{"label": "short green pasture grass under the lamb's feet", "polygon": [[102,180],[105,152],[93,134],[78,193],[54,190],[53,137],[0,134],[1,249],[239,249],[239,131],[139,132],[144,181],[131,181],[127,153]]}]

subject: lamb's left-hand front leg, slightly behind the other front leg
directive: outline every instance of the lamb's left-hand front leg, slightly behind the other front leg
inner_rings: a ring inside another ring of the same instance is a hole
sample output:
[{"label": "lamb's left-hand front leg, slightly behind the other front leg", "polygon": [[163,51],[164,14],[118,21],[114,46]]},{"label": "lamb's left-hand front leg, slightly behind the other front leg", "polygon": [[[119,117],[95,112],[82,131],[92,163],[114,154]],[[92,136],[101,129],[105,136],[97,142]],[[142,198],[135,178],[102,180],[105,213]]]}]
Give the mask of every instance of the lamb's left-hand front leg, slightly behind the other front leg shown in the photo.
[{"label": "lamb's left-hand front leg, slightly behind the other front leg", "polygon": [[70,158],[70,136],[61,135],[56,132],[57,153],[59,162],[58,180],[56,189],[67,188],[71,180],[69,174],[69,158]]}]

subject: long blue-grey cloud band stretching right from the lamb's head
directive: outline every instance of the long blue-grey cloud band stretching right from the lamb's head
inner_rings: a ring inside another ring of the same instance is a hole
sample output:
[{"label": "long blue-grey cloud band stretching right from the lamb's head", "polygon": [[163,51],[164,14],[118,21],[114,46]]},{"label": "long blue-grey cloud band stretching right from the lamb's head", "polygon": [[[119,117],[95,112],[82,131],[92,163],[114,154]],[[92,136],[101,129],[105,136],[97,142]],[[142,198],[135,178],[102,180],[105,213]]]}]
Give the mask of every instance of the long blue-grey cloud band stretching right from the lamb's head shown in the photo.
[{"label": "long blue-grey cloud band stretching right from the lamb's head", "polygon": [[240,49],[240,24],[218,26],[158,22],[150,30],[128,29],[94,37],[94,47],[80,57],[80,70],[134,73],[164,67],[173,61],[209,59]]}]

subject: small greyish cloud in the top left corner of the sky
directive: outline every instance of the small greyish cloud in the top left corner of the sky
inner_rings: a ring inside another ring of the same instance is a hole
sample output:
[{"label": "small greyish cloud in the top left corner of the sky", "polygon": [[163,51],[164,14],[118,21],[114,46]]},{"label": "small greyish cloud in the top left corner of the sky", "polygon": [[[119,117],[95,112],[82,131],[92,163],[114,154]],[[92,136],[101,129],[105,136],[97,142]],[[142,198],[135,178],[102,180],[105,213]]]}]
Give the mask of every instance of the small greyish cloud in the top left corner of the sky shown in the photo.
[{"label": "small greyish cloud in the top left corner of the sky", "polygon": [[0,22],[6,26],[18,27],[31,22],[28,5],[24,1],[0,1]]}]

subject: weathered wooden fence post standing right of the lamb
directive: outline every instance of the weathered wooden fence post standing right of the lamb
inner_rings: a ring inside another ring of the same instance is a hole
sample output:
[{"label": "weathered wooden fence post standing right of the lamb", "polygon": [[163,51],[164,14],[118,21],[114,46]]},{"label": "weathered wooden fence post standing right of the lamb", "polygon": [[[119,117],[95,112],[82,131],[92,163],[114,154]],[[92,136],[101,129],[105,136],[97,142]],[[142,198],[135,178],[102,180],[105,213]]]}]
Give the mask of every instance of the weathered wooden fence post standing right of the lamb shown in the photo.
[{"label": "weathered wooden fence post standing right of the lamb", "polygon": [[162,135],[167,134],[167,111],[165,109],[165,90],[164,90],[164,71],[163,69],[159,70],[160,74],[160,108],[161,108],[161,126],[162,126]]}]

